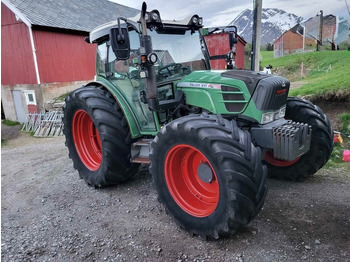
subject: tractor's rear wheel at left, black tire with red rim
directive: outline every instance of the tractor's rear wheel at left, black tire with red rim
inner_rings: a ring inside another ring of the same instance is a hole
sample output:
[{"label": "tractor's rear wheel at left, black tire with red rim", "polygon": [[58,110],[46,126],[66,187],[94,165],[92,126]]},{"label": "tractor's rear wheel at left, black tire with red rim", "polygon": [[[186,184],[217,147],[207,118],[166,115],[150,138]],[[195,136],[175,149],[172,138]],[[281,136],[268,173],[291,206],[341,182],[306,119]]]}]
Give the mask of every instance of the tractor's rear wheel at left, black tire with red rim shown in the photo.
[{"label": "tractor's rear wheel at left, black tire with red rim", "polygon": [[102,87],[74,90],[66,98],[64,134],[69,157],[91,186],[118,184],[137,172],[130,163],[131,136],[117,102]]}]

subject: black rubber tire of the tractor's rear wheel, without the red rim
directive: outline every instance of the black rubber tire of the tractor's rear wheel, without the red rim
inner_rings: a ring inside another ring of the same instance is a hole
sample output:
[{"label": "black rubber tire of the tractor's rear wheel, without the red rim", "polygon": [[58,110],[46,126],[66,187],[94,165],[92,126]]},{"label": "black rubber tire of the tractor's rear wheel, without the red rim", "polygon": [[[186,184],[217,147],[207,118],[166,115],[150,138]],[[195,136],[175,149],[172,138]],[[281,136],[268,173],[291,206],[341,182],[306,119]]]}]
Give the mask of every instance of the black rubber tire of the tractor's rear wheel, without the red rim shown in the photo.
[{"label": "black rubber tire of the tractor's rear wheel, without the red rim", "polygon": [[[75,149],[72,119],[76,110],[86,111],[99,132],[102,144],[102,161],[98,170],[85,167]],[[63,106],[63,133],[69,158],[80,178],[91,186],[105,187],[128,179],[137,172],[138,164],[130,163],[130,131],[117,101],[102,86],[84,86],[71,92]]]}]

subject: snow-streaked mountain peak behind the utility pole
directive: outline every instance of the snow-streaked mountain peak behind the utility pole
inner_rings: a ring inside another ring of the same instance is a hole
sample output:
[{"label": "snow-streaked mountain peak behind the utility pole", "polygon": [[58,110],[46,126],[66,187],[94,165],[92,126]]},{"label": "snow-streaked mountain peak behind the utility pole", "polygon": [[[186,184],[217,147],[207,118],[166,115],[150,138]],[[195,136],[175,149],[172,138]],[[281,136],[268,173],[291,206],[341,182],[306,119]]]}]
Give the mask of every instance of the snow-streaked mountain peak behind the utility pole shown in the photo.
[{"label": "snow-streaked mountain peak behind the utility pole", "polygon": [[[263,8],[261,14],[261,45],[273,42],[285,31],[303,20],[302,17],[277,8]],[[237,26],[238,34],[252,42],[253,11],[245,9],[230,25]]]}]

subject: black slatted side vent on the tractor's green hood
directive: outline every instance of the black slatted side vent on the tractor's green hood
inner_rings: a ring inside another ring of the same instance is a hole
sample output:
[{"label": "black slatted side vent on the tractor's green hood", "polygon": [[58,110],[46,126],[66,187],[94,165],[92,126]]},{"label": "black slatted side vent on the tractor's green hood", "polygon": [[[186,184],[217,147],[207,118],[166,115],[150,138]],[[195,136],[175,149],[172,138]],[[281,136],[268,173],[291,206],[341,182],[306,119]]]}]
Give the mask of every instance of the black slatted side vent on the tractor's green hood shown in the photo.
[{"label": "black slatted side vent on the tractor's green hood", "polygon": [[243,110],[247,101],[243,96],[243,92],[233,86],[221,86],[222,98],[228,112],[239,113]]}]

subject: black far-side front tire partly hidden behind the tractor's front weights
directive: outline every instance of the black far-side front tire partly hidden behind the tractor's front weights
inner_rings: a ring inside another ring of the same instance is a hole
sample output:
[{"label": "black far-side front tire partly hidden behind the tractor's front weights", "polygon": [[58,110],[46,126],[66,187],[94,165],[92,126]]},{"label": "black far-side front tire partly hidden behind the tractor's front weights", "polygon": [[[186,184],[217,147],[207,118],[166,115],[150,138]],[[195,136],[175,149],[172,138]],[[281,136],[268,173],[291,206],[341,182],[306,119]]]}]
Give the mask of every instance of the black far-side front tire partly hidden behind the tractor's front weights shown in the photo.
[{"label": "black far-side front tire partly hidden behind the tractor's front weights", "polygon": [[271,152],[267,152],[265,162],[268,176],[292,181],[305,180],[327,163],[333,150],[333,130],[327,116],[318,106],[297,97],[288,97],[285,117],[311,126],[310,150],[294,161],[274,159]]}]

